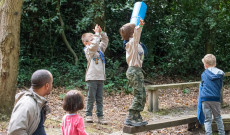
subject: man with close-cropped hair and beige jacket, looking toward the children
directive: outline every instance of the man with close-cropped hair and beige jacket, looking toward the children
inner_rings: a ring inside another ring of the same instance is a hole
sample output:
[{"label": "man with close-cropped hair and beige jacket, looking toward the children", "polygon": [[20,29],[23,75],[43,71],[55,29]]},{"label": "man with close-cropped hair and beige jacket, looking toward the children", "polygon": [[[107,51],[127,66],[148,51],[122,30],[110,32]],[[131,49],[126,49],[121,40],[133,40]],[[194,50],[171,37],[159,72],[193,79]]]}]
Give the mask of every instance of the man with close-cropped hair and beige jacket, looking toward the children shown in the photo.
[{"label": "man with close-cropped hair and beige jacket, looking toward the children", "polygon": [[33,73],[30,90],[16,95],[8,135],[46,135],[44,122],[49,107],[45,96],[52,87],[53,76],[48,70]]}]

